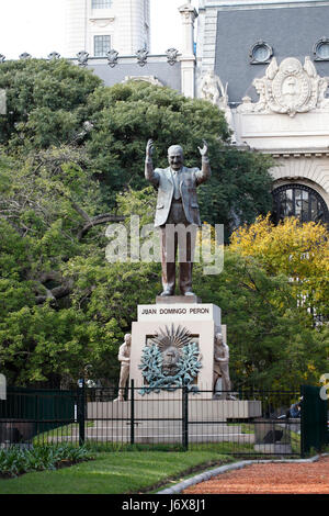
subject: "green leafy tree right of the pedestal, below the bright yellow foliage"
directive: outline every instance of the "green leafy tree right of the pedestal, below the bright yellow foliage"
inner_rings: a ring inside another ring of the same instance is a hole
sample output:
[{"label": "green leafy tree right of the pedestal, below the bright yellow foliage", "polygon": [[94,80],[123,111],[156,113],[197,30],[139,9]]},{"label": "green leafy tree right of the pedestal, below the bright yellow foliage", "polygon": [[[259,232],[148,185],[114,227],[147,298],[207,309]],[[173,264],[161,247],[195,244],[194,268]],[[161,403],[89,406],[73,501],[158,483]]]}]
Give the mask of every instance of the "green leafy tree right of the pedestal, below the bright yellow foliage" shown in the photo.
[{"label": "green leafy tree right of the pedestal, below the bright yellow foliage", "polygon": [[195,291],[222,309],[234,389],[298,389],[328,369],[329,330],[315,329],[283,273],[269,274],[254,258],[230,248],[220,274],[196,267]]}]

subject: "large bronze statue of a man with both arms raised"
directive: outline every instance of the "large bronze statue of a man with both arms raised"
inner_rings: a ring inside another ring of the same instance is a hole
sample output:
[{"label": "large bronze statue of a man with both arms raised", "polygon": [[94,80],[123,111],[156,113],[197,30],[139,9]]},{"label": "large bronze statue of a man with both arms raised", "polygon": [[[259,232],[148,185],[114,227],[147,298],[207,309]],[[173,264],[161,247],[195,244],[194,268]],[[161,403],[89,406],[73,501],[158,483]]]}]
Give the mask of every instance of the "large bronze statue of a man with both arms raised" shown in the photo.
[{"label": "large bronze statue of a man with both arms raised", "polygon": [[[158,202],[155,226],[160,227],[161,235],[161,263],[162,263],[162,293],[174,295],[175,289],[175,256],[180,251],[179,287],[181,295],[194,295],[192,292],[192,266],[195,236],[197,226],[201,226],[196,187],[211,177],[207,144],[204,141],[200,148],[202,169],[184,167],[183,149],[172,145],[168,149],[169,167],[164,169],[152,166],[154,142],[148,141],[146,146],[145,177],[158,189]],[[178,233],[169,233],[166,226],[182,224],[189,226],[184,242]],[[174,239],[174,242],[171,242]],[[172,249],[173,259],[170,256]],[[181,259],[181,256],[184,259]]]}]

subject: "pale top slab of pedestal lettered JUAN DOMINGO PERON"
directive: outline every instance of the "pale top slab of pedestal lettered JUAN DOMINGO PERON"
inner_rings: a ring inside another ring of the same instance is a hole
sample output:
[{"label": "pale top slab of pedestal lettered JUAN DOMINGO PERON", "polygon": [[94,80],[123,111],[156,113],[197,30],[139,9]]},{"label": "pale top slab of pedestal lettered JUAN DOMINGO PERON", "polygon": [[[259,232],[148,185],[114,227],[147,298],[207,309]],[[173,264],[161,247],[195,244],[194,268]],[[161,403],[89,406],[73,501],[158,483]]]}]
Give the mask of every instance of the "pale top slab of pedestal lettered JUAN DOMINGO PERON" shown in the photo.
[{"label": "pale top slab of pedestal lettered JUAN DOMINGO PERON", "polygon": [[139,304],[138,321],[215,321],[220,309],[215,304]]}]

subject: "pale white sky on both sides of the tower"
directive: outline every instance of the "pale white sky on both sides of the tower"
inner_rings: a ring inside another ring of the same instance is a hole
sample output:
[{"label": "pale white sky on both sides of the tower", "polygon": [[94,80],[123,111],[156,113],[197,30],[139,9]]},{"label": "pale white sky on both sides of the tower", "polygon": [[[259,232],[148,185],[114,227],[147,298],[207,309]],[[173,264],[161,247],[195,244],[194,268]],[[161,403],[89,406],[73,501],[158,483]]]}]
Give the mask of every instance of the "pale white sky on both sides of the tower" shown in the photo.
[{"label": "pale white sky on both sides of the tower", "polygon": [[[27,52],[47,57],[64,51],[64,4],[66,0],[0,0],[0,54],[18,59]],[[178,8],[185,0],[150,0],[151,54],[181,47],[181,18]],[[197,7],[198,1],[192,0]]]}]

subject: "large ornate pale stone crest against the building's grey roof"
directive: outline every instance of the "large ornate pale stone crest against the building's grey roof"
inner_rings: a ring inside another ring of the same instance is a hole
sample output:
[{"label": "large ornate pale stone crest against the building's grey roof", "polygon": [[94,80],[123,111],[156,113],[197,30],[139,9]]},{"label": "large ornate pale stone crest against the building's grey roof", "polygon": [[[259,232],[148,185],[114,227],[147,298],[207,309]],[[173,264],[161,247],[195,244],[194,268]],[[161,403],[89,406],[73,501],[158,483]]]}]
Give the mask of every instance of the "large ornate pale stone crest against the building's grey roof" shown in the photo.
[{"label": "large ornate pale stone crest against the building's grey roof", "polygon": [[304,65],[295,57],[287,57],[280,65],[273,57],[265,76],[253,80],[259,101],[252,103],[249,97],[242,99],[238,113],[306,113],[318,108],[329,108],[326,91],[328,77],[319,77],[309,59]]}]

